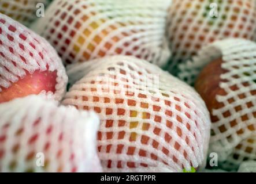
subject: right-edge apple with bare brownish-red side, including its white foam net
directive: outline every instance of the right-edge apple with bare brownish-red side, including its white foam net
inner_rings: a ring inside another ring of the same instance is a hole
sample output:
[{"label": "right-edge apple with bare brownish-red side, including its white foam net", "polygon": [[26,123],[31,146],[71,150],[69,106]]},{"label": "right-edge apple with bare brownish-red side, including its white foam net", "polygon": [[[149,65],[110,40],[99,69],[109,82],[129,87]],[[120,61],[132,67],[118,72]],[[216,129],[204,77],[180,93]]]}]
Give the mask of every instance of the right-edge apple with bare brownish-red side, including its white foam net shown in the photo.
[{"label": "right-edge apple with bare brownish-red side, including its white foam net", "polygon": [[219,166],[227,170],[237,170],[243,156],[253,159],[244,150],[253,152],[246,140],[256,132],[255,48],[250,40],[216,41],[202,48],[184,70],[210,112],[209,154],[216,153]]}]

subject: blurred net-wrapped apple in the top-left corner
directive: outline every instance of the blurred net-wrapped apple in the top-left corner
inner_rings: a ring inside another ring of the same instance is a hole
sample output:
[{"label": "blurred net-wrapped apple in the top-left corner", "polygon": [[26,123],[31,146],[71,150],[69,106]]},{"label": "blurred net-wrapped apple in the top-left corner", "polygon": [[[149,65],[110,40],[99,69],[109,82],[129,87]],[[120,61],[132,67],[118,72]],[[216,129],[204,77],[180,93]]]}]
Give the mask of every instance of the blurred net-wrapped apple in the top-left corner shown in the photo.
[{"label": "blurred net-wrapped apple in the top-left corner", "polygon": [[[0,13],[12,17],[14,20],[29,26],[36,20],[36,11],[39,3],[43,3],[44,10],[51,0],[0,0]],[[40,6],[41,7],[41,6]]]}]

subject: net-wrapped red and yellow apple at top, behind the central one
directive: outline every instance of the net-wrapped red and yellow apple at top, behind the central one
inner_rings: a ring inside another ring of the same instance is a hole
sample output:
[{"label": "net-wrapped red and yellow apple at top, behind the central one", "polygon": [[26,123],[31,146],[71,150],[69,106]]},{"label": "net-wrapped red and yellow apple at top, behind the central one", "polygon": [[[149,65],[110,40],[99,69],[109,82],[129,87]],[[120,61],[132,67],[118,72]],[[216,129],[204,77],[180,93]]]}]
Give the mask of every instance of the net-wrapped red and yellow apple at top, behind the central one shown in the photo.
[{"label": "net-wrapped red and yellow apple at top, behind the central one", "polygon": [[170,0],[55,0],[32,26],[65,64],[105,55],[133,55],[164,66]]}]

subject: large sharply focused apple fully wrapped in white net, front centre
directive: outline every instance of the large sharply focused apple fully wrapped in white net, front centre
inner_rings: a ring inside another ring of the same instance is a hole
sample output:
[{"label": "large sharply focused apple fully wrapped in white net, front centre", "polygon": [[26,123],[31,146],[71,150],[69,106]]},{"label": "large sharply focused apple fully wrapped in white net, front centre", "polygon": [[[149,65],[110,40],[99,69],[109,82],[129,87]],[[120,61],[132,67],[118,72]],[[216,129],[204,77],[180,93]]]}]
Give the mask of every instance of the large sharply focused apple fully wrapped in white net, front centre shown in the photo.
[{"label": "large sharply focused apple fully wrapped in white net, front centre", "polygon": [[83,78],[62,104],[99,114],[104,171],[182,172],[204,164],[210,117],[190,86],[133,56],[76,64],[69,74]]}]

